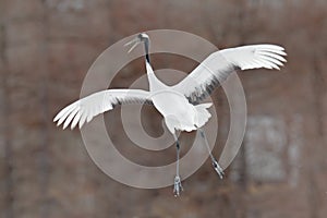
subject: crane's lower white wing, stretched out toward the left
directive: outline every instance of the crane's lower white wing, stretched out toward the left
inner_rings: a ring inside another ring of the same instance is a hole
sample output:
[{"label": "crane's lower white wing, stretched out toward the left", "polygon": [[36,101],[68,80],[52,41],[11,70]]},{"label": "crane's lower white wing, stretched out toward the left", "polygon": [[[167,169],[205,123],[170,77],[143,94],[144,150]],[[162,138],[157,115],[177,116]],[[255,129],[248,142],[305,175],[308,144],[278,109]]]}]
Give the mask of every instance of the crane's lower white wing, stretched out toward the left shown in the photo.
[{"label": "crane's lower white wing, stretched out toward the left", "polygon": [[108,89],[92,94],[63,108],[53,119],[57,125],[63,123],[65,129],[71,123],[80,129],[95,116],[111,110],[116,105],[150,104],[149,92],[141,89]]}]

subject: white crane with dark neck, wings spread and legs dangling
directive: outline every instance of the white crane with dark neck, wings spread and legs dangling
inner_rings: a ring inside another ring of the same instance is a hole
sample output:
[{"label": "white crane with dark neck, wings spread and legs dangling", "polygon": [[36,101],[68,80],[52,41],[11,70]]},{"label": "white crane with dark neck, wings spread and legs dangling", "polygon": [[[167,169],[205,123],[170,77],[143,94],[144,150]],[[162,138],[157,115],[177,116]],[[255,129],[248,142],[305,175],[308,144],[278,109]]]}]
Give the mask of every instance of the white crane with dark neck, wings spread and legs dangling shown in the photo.
[{"label": "white crane with dark neck, wings spread and legs dangling", "polygon": [[252,45],[219,50],[207,57],[183,81],[174,86],[168,86],[159,81],[149,61],[149,37],[145,33],[138,34],[128,43],[132,45],[129,52],[138,44],[144,43],[145,65],[149,82],[149,90],[142,89],[107,89],[92,94],[63,108],[53,119],[57,125],[63,123],[63,129],[71,124],[80,129],[95,116],[113,109],[117,105],[149,104],[164,117],[165,123],[177,144],[177,174],[173,192],[175,196],[182,191],[179,175],[180,145],[177,131],[198,130],[209,150],[213,166],[220,178],[223,171],[211,155],[204,131],[201,129],[211,117],[207,108],[211,104],[201,104],[219,86],[234,70],[277,69],[286,62],[284,49],[276,45]]}]

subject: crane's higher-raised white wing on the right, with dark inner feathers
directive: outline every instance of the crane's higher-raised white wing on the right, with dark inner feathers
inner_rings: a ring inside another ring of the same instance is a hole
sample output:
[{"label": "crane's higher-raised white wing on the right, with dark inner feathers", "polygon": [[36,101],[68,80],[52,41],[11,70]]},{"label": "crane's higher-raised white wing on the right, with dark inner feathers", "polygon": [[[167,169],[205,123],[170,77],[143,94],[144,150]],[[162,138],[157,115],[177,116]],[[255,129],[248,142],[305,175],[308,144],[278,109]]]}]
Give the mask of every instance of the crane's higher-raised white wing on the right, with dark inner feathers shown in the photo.
[{"label": "crane's higher-raised white wing on the right, with dark inner feathers", "polygon": [[284,49],[275,45],[252,45],[216,51],[172,88],[183,93],[191,104],[197,105],[234,70],[279,70],[286,62],[284,56]]}]

